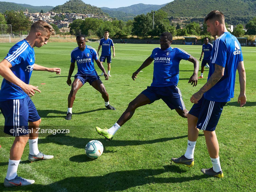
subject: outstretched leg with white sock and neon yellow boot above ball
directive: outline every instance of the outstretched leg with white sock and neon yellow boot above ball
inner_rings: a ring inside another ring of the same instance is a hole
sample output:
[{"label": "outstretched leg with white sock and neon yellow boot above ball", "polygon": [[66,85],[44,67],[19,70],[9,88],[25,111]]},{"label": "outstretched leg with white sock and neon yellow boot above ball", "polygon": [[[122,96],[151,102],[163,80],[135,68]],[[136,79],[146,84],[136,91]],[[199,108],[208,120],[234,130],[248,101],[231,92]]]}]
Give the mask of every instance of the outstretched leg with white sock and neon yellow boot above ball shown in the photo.
[{"label": "outstretched leg with white sock and neon yellow boot above ball", "polygon": [[132,102],[129,103],[127,109],[123,112],[118,121],[110,128],[101,129],[100,127],[96,127],[96,131],[105,137],[106,140],[112,140],[113,135],[116,131],[131,117],[133,116],[135,110],[143,105],[150,103],[150,100],[144,95],[139,94]]}]

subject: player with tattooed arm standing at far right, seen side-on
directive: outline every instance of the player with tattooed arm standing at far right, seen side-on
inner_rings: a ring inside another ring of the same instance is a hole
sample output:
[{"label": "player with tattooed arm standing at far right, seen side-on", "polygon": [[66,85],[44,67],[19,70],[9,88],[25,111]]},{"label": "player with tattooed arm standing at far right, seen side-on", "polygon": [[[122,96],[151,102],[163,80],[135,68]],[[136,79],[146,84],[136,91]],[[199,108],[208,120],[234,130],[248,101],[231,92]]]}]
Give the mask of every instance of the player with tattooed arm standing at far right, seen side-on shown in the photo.
[{"label": "player with tattooed arm standing at far right, seen side-on", "polygon": [[224,105],[234,97],[236,70],[239,73],[240,107],[246,103],[246,74],[243,64],[241,46],[237,38],[231,35],[225,26],[224,15],[211,11],[206,17],[207,31],[212,36],[218,35],[215,41],[210,62],[207,83],[192,97],[195,103],[188,113],[188,144],[185,155],[172,158],[178,164],[188,167],[194,165],[194,150],[199,129],[204,131],[207,149],[212,168],[201,169],[202,173],[215,177],[223,177],[219,159],[219,144],[215,133]]}]

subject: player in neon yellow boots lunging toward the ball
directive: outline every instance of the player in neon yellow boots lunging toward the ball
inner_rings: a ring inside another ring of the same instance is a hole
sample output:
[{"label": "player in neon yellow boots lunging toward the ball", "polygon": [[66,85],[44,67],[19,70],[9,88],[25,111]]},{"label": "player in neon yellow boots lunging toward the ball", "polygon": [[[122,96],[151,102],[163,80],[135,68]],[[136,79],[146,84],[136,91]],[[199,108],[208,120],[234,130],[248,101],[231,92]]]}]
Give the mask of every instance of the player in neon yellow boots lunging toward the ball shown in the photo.
[{"label": "player in neon yellow boots lunging toward the ball", "polygon": [[172,34],[165,32],[160,36],[161,48],[155,48],[143,64],[133,74],[132,79],[137,78],[138,73],[150,65],[154,61],[153,82],[146,90],[142,91],[132,102],[119,118],[119,120],[110,129],[101,129],[96,127],[99,134],[103,135],[107,140],[111,140],[115,132],[131,117],[135,110],[143,105],[151,104],[156,100],[162,99],[167,106],[182,116],[187,118],[188,111],[182,100],[181,91],[177,87],[179,81],[179,62],[180,60],[188,60],[194,63],[194,73],[190,77],[188,83],[197,85],[198,60],[179,48],[172,48]]}]

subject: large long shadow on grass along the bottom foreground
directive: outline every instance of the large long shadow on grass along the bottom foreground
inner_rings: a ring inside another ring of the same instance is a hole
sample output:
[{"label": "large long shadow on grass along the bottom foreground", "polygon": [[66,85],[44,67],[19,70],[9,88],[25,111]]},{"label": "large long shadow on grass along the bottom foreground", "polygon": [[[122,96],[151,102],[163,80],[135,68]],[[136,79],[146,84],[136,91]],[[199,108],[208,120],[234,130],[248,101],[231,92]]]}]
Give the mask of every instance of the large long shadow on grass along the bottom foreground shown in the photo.
[{"label": "large long shadow on grass along the bottom foreground", "polygon": [[[17,188],[4,188],[3,183],[0,184],[0,191],[14,190],[30,190],[34,191],[122,191],[131,187],[150,184],[164,183],[182,183],[208,178],[207,175],[195,175],[193,177],[184,177],[183,174],[178,177],[159,177],[158,175],[168,172],[184,173],[185,170],[178,166],[166,165],[159,169],[138,169],[111,172],[103,176],[84,176],[84,177],[68,177],[58,182],[48,185],[33,184],[30,186]],[[85,175],[87,175],[85,173]],[[150,189],[150,188],[147,188]]]}]

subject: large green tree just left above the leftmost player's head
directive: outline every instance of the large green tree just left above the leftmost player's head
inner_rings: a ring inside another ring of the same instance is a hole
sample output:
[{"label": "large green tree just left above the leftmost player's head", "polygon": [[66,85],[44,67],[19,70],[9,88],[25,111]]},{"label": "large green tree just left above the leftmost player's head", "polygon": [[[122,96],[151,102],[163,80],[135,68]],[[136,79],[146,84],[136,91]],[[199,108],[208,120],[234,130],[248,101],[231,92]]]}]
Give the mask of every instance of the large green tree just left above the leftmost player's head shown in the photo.
[{"label": "large green tree just left above the leftmost player's head", "polygon": [[22,31],[29,31],[32,22],[23,14],[23,11],[15,12],[14,10],[5,12],[6,23],[12,25],[14,33],[21,33]]}]

